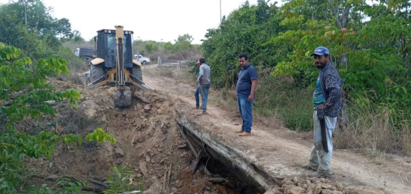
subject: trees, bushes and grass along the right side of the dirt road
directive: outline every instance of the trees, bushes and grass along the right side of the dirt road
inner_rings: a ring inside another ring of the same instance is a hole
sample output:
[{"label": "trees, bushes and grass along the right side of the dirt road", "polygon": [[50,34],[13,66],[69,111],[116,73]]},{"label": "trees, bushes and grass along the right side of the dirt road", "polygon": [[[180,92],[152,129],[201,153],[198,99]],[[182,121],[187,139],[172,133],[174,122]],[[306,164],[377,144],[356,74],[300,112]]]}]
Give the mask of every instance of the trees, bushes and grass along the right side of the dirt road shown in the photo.
[{"label": "trees, bushes and grass along the right side of the dirt road", "polygon": [[[247,53],[261,72],[255,111],[278,115],[288,128],[303,131],[312,128],[309,105],[319,74],[309,55],[317,46],[328,47],[346,93],[349,122],[340,128],[355,130],[353,141],[388,131],[350,147],[409,154],[410,8],[409,1],[291,0],[281,7],[246,2],[209,29],[202,47],[213,85],[221,90],[234,86],[237,55]],[[387,146],[373,146],[381,141]]]}]

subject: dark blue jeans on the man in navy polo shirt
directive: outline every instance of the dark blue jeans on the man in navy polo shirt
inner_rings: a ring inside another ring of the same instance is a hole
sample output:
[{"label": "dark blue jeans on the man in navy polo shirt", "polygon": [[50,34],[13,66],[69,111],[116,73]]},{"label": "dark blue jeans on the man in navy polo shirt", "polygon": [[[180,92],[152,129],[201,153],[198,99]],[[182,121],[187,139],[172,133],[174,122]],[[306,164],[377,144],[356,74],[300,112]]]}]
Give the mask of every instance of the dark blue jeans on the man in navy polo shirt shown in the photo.
[{"label": "dark blue jeans on the man in navy polo shirt", "polygon": [[[248,101],[248,96],[241,96],[237,94],[238,109],[242,118],[241,129],[248,133],[251,133],[251,127],[253,126],[253,114],[251,112],[253,102]],[[254,101],[254,100],[253,100]]]}]

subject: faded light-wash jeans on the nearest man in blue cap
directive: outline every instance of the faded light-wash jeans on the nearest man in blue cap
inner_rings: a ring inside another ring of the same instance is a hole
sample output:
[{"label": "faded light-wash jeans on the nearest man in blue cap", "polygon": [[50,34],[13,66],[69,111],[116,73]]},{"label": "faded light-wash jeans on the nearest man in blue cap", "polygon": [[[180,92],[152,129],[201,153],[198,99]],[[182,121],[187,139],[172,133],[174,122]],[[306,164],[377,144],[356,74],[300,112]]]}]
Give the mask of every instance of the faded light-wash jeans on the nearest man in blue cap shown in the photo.
[{"label": "faded light-wash jeans on the nearest man in blue cap", "polygon": [[321,125],[320,120],[317,117],[317,111],[312,114],[314,121],[314,146],[312,146],[310,154],[310,166],[318,168],[318,172],[324,174],[332,174],[331,171],[331,157],[332,157],[332,133],[334,132],[335,125],[337,124],[337,117],[325,116],[325,127],[327,132],[327,145],[328,153],[325,152],[323,144],[321,143]]}]

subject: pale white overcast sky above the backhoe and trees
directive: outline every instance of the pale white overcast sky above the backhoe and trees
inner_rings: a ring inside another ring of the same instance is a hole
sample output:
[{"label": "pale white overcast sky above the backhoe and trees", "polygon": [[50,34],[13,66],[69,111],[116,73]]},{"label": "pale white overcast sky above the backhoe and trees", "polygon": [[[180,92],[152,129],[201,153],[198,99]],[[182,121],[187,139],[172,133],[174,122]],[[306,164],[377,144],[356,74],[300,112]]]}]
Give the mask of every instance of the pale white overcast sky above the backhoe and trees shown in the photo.
[{"label": "pale white overcast sky above the backhoe and trees", "polygon": [[[0,4],[8,3],[0,0]],[[190,34],[192,43],[201,44],[207,29],[220,23],[220,0],[43,0],[52,7],[55,18],[67,18],[72,30],[79,30],[85,40],[100,29],[134,31],[134,40],[172,42],[179,35]],[[221,0],[221,15],[229,15],[245,0]],[[276,2],[270,1],[270,3]],[[249,0],[255,5],[257,0]]]}]

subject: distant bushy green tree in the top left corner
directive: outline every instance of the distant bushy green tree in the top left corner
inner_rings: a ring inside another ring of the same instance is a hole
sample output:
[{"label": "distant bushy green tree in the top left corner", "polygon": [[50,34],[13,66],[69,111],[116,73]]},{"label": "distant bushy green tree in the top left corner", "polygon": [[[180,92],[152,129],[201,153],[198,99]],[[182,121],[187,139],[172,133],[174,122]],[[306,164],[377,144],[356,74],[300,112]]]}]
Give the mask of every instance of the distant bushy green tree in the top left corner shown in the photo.
[{"label": "distant bushy green tree in the top left corner", "polygon": [[40,0],[20,0],[0,6],[0,42],[22,49],[22,55],[36,61],[55,57],[61,40],[73,38],[67,18],[50,15]]}]

